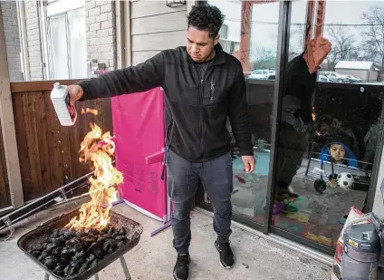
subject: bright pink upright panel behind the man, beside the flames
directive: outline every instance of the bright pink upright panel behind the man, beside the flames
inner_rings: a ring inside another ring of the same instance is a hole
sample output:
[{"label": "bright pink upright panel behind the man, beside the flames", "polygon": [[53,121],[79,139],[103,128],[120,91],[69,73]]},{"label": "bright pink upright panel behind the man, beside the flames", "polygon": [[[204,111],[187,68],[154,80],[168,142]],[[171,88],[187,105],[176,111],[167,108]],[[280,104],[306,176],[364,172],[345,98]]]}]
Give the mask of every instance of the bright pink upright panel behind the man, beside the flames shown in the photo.
[{"label": "bright pink upright panel behind the man, beside the flames", "polygon": [[164,93],[160,88],[112,98],[120,195],[149,217],[167,216],[167,180],[161,180],[165,140]]}]

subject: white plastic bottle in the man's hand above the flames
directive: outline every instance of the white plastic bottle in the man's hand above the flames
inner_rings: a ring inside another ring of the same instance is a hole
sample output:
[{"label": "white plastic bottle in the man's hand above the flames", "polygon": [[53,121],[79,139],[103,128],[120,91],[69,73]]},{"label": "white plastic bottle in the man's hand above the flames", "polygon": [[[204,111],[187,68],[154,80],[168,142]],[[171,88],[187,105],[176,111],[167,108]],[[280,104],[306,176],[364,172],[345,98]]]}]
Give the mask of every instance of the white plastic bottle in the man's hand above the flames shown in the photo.
[{"label": "white plastic bottle in the man's hand above the flames", "polygon": [[71,104],[68,86],[55,82],[51,92],[54,111],[62,126],[72,126],[77,119],[76,107]]}]

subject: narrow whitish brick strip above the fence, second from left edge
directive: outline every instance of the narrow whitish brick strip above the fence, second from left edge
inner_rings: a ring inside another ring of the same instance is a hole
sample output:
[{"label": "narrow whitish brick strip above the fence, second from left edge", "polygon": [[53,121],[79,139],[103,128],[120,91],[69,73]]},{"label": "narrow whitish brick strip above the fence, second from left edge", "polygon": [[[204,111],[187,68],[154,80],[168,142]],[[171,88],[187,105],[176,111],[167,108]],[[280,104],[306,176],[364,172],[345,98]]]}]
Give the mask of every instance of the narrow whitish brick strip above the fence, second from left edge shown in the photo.
[{"label": "narrow whitish brick strip above the fence, second from left edge", "polygon": [[25,1],[26,36],[31,80],[43,80],[43,55],[36,1]]}]

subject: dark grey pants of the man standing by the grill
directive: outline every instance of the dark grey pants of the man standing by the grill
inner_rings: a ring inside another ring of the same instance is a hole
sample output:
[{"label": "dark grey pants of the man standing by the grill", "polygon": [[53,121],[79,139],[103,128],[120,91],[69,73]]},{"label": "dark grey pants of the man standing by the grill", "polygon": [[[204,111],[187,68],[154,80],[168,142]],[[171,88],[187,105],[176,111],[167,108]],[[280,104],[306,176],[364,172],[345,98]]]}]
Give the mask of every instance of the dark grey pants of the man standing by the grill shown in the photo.
[{"label": "dark grey pants of the man standing by the grill", "polygon": [[171,224],[173,246],[178,254],[188,252],[191,230],[189,213],[193,207],[198,181],[214,207],[214,229],[220,242],[228,242],[231,235],[231,192],[233,190],[232,158],[230,153],[210,161],[195,163],[168,151],[168,196],[172,200]]}]

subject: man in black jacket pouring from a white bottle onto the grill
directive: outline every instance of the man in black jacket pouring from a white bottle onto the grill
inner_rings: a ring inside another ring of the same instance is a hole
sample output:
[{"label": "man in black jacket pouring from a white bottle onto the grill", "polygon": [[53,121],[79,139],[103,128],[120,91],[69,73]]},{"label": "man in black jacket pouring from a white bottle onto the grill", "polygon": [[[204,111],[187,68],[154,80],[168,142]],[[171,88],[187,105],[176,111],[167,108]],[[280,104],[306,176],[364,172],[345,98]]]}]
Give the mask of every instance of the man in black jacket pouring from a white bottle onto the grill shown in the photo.
[{"label": "man in black jacket pouring from a white bottle onto the grill", "polygon": [[173,203],[173,246],[178,252],[175,280],[188,278],[189,212],[199,180],[213,203],[220,264],[226,268],[234,265],[229,246],[233,175],[227,117],[245,171],[254,171],[245,78],[241,63],[218,43],[223,20],[215,6],[194,6],[187,17],[187,47],[163,51],[145,63],[70,87],[72,101],[144,92],[158,86],[165,90],[168,196]]}]

